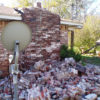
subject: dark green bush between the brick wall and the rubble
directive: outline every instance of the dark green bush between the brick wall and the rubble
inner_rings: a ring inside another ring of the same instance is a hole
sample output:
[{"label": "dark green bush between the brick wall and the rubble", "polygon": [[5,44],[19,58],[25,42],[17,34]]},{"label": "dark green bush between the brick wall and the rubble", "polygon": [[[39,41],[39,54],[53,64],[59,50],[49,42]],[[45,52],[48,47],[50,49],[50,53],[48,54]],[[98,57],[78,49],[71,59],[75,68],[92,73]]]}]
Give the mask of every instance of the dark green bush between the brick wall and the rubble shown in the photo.
[{"label": "dark green bush between the brick wall and the rubble", "polygon": [[73,49],[68,49],[66,45],[61,46],[60,57],[61,59],[73,57],[77,62],[82,58],[80,53],[75,52]]}]

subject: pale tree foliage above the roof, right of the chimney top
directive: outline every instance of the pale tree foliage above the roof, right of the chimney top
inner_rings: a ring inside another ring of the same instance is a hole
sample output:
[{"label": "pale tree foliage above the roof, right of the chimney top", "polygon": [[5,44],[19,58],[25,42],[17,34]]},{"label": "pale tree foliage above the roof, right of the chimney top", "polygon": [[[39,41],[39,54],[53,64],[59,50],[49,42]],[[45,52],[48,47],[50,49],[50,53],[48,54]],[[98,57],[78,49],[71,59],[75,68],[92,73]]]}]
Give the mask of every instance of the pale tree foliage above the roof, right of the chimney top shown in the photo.
[{"label": "pale tree foliage above the roof, right of the chimney top", "polygon": [[44,0],[43,7],[62,18],[82,19],[93,0]]}]

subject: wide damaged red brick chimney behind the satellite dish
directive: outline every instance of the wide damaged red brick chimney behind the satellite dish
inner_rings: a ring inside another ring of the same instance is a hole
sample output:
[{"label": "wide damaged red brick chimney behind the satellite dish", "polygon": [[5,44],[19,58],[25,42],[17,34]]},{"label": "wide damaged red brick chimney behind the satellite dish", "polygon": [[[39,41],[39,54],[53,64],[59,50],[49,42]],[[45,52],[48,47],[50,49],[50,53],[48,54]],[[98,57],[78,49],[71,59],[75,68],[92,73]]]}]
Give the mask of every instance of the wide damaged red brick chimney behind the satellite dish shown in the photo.
[{"label": "wide damaged red brick chimney behind the satellite dish", "polygon": [[[41,3],[37,3],[41,7]],[[23,21],[32,29],[32,41],[22,54],[21,64],[33,66],[39,60],[59,59],[60,17],[43,8],[23,9]]]}]

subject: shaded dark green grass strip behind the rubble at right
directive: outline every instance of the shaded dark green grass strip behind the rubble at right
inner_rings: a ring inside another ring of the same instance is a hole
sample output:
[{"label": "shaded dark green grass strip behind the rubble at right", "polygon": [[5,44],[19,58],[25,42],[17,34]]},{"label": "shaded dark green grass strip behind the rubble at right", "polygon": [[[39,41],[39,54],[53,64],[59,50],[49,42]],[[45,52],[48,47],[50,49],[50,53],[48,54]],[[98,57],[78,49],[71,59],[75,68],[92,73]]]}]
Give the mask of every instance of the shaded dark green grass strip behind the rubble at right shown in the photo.
[{"label": "shaded dark green grass strip behind the rubble at right", "polygon": [[96,57],[96,56],[87,56],[87,55],[83,55],[82,56],[82,61],[86,62],[86,63],[90,63],[90,64],[94,64],[94,65],[98,65],[100,66],[100,57]]}]

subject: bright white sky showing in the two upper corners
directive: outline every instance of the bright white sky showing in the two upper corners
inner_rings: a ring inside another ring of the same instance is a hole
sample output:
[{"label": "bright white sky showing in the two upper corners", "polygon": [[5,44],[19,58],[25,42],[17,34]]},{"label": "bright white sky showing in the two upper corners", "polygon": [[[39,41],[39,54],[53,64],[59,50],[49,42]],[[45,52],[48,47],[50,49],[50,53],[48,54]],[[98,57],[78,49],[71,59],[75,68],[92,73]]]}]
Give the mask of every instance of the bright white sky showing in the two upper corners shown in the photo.
[{"label": "bright white sky showing in the two upper corners", "polygon": [[[18,5],[16,1],[17,0],[0,0],[0,4],[9,6],[9,7],[16,7]],[[90,12],[93,12],[94,14],[100,14],[100,0],[94,0],[94,1],[95,2],[88,9],[88,12],[87,12],[88,14]]]}]

